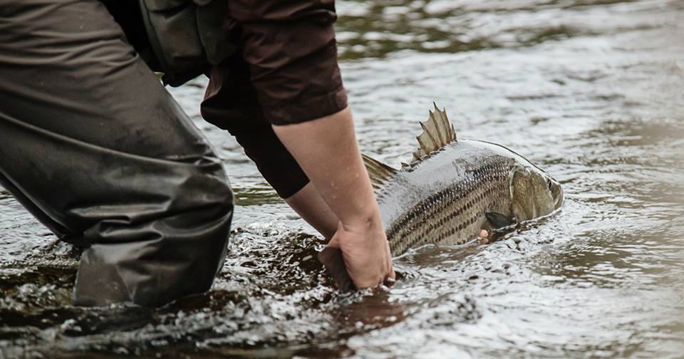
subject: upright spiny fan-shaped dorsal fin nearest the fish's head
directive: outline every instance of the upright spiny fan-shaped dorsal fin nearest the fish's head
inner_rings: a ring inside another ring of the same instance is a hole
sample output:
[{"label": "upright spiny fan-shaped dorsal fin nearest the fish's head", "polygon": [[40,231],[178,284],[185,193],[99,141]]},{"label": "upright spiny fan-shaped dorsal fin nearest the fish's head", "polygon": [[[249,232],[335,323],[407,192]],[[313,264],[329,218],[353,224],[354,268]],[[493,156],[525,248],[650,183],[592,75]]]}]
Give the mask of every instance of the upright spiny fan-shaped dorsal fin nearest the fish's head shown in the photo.
[{"label": "upright spiny fan-shaped dorsal fin nearest the fish's head", "polygon": [[449,123],[445,110],[440,110],[435,105],[435,112],[430,111],[430,118],[424,123],[420,123],[423,132],[416,137],[418,139],[418,150],[413,152],[413,162],[420,161],[430,153],[440,150],[447,144],[456,141],[456,131],[454,125]]}]

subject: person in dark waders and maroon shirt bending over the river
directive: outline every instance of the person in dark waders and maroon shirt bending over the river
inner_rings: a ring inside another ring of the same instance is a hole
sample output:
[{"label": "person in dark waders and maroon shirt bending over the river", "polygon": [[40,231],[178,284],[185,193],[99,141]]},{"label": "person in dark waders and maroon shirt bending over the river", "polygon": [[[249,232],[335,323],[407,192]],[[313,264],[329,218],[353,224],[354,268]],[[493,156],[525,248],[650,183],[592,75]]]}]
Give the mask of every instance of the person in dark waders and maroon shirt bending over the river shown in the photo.
[{"label": "person in dark waders and maroon shirt bending over the river", "polygon": [[224,170],[150,67],[172,85],[208,73],[204,118],[341,249],[353,283],[394,277],[332,0],[7,0],[0,19],[0,184],[85,247],[76,304],[159,306],[207,291],[224,261]]}]

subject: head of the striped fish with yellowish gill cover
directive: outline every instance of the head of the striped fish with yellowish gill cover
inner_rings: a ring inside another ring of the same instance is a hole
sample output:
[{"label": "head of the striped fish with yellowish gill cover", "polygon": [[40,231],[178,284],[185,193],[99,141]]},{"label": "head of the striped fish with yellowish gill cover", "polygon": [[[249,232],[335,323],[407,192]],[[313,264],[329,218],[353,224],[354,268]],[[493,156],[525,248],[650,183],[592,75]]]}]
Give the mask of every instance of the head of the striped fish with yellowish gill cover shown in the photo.
[{"label": "head of the striped fish with yellowish gill cover", "polygon": [[546,216],[563,204],[561,184],[534,165],[515,165],[509,180],[512,214],[517,222]]}]

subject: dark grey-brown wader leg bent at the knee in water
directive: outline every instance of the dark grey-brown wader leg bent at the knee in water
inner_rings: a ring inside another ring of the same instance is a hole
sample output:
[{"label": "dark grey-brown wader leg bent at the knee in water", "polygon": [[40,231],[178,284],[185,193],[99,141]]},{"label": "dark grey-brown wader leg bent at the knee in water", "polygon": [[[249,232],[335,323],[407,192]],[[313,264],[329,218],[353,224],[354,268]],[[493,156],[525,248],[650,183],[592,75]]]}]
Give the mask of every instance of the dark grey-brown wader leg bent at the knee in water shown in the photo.
[{"label": "dark grey-brown wader leg bent at the knee in water", "polygon": [[207,140],[88,0],[0,3],[0,181],[88,246],[75,302],[206,291],[233,198]]}]

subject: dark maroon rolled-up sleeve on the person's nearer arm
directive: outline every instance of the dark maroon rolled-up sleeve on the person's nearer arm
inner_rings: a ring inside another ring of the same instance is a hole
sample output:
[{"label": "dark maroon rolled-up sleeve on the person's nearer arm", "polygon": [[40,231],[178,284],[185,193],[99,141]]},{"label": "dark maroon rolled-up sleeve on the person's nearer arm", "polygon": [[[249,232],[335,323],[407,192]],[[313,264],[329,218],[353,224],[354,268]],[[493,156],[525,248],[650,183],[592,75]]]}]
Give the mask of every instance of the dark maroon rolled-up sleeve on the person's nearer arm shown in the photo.
[{"label": "dark maroon rolled-up sleeve on the person's nearer arm", "polygon": [[301,123],[346,108],[333,0],[231,0],[229,16],[269,123]]}]

